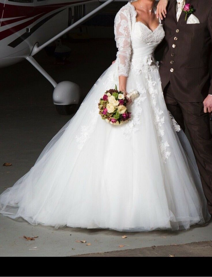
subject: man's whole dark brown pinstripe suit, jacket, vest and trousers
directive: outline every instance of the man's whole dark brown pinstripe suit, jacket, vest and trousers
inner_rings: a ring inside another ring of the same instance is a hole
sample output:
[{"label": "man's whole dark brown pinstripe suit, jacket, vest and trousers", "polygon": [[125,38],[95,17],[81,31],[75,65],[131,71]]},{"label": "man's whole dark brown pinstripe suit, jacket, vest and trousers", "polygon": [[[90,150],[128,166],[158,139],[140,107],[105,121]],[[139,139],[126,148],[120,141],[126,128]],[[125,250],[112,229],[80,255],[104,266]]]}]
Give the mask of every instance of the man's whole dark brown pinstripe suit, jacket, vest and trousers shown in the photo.
[{"label": "man's whole dark brown pinstripe suit, jacket, vest and trousers", "polygon": [[182,129],[185,128],[185,121],[191,136],[203,190],[212,214],[212,137],[209,115],[203,111],[203,100],[212,94],[209,74],[212,0],[187,0],[186,3],[192,4],[200,24],[186,24],[184,12],[177,22],[176,0],[170,0],[164,20],[167,45],[159,72],[167,108]]}]

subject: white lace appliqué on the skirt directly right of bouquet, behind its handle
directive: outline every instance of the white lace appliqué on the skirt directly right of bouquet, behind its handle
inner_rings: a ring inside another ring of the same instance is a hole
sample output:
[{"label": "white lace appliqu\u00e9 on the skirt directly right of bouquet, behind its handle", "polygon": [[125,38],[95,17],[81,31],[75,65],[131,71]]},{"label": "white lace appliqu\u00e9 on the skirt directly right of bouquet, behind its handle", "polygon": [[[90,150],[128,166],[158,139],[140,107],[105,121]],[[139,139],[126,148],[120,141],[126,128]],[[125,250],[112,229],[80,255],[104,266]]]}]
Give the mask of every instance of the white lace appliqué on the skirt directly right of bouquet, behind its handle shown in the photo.
[{"label": "white lace appliqu\u00e9 on the skirt directly right of bouquet, behind its handle", "polygon": [[140,85],[139,82],[136,82],[136,89],[139,92],[138,98],[134,99],[130,110],[132,109],[132,118],[122,127],[123,136],[125,139],[129,140],[131,138],[132,132],[138,130],[138,125],[140,125],[140,115],[142,113],[141,102],[147,98],[145,94],[147,93],[146,89]]}]

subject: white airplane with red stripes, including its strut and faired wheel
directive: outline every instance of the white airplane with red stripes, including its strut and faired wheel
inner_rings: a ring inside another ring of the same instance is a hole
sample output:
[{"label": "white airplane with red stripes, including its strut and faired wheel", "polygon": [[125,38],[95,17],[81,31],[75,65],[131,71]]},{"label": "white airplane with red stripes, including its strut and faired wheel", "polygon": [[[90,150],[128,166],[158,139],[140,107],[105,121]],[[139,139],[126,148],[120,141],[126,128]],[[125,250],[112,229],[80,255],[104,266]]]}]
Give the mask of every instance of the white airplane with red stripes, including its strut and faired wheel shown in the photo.
[{"label": "white airplane with red stripes, including its strut and faired wheel", "polygon": [[80,88],[70,81],[57,84],[33,56],[114,0],[100,1],[0,0],[0,67],[27,59],[54,87],[59,114],[72,113]]}]

